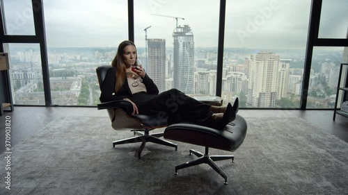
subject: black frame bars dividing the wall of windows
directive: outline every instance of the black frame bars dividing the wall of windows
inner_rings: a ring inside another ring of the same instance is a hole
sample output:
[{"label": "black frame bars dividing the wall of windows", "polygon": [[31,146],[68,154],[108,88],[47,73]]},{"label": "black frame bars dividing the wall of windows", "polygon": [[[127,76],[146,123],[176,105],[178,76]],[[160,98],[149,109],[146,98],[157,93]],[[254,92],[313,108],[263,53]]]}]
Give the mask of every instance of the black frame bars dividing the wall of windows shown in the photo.
[{"label": "black frame bars dividing the wall of windows", "polygon": [[[125,0],[126,1],[126,0]],[[313,47],[315,46],[348,46],[348,37],[342,39],[319,38],[320,15],[322,11],[323,0],[311,0],[310,21],[308,26],[308,38],[306,45],[306,60],[303,68],[303,82],[301,90],[300,110],[308,110],[307,92],[310,80],[310,67],[313,58]],[[45,90],[45,106],[52,106],[51,89],[49,85],[49,69],[47,58],[47,42],[45,38],[45,18],[43,9],[43,0],[31,0],[33,7],[33,18],[35,26],[35,35],[6,35],[5,22],[3,20],[3,0],[0,0],[0,51],[3,52],[3,44],[7,43],[36,43],[40,44],[40,56],[42,64],[42,77]],[[226,20],[226,0],[220,0],[219,12],[219,38],[217,55],[217,73],[216,73],[216,96],[221,96],[222,75],[223,75],[223,44],[225,37]],[[134,1],[127,0],[128,4],[128,37],[134,41]],[[34,10],[35,9],[35,10]],[[95,106],[93,106],[95,107]],[[258,109],[258,108],[251,108]],[[264,109],[264,108],[262,108]],[[284,108],[270,108],[282,110]],[[292,108],[294,109],[294,108]]]}]

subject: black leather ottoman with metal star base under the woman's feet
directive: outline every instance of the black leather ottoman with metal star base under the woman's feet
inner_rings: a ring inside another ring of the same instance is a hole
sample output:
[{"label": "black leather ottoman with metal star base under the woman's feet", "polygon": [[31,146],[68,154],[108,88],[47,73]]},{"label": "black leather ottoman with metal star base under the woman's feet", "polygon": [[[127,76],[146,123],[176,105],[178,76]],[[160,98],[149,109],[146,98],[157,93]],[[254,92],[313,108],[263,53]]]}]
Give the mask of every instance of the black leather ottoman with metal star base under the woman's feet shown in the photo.
[{"label": "black leather ottoman with metal star base under the woman's feet", "polygon": [[175,175],[177,170],[191,167],[197,164],[209,164],[216,172],[218,172],[227,184],[228,176],[220,169],[214,161],[217,160],[234,160],[233,155],[209,155],[209,148],[221,149],[223,151],[235,151],[241,146],[246,137],[246,121],[240,115],[230,122],[224,130],[198,126],[195,124],[173,124],[164,130],[165,139],[173,139],[179,142],[205,146],[205,153],[199,153],[193,149],[189,153],[198,156],[195,160],[185,162],[175,167]]}]

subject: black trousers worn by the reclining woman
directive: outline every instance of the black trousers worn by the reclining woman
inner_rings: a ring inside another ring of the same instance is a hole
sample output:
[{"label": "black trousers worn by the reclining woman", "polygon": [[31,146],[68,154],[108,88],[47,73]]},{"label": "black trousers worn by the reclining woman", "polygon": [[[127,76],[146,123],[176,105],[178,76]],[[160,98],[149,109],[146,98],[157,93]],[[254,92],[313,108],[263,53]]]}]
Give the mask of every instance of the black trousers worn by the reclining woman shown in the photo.
[{"label": "black trousers worn by the reclining woman", "polygon": [[211,105],[197,101],[176,89],[158,95],[134,94],[132,101],[136,103],[139,114],[155,115],[154,120],[166,118],[169,125],[179,122],[205,125],[213,114],[209,110]]}]

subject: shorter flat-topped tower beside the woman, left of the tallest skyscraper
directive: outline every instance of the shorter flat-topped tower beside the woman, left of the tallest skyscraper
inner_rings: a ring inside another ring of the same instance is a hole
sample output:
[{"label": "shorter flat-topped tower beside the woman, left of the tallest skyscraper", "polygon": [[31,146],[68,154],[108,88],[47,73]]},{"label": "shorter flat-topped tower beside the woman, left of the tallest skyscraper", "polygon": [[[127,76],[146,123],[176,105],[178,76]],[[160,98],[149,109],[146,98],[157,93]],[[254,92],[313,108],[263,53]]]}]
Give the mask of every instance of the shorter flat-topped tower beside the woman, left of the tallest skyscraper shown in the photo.
[{"label": "shorter flat-topped tower beside the woman, left of the tallest skyscraper", "polygon": [[148,39],[148,67],[146,73],[159,92],[166,90],[166,40]]}]

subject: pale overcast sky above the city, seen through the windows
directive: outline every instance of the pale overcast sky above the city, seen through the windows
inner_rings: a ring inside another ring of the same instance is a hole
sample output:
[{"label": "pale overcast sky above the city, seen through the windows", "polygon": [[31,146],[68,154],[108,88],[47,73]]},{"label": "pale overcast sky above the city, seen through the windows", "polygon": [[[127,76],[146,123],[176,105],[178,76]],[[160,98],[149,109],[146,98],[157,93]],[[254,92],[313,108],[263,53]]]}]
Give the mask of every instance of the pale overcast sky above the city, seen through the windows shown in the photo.
[{"label": "pale overcast sky above the city, seen through the windows", "polygon": [[[9,34],[33,35],[31,0],[3,0]],[[134,0],[135,42],[148,38],[173,46],[175,19],[182,17],[194,35],[195,46],[218,44],[218,0]],[[128,39],[127,1],[44,0],[47,46],[118,46]],[[305,49],[310,0],[227,0],[226,47]],[[348,1],[324,0],[319,37],[344,38]]]}]

